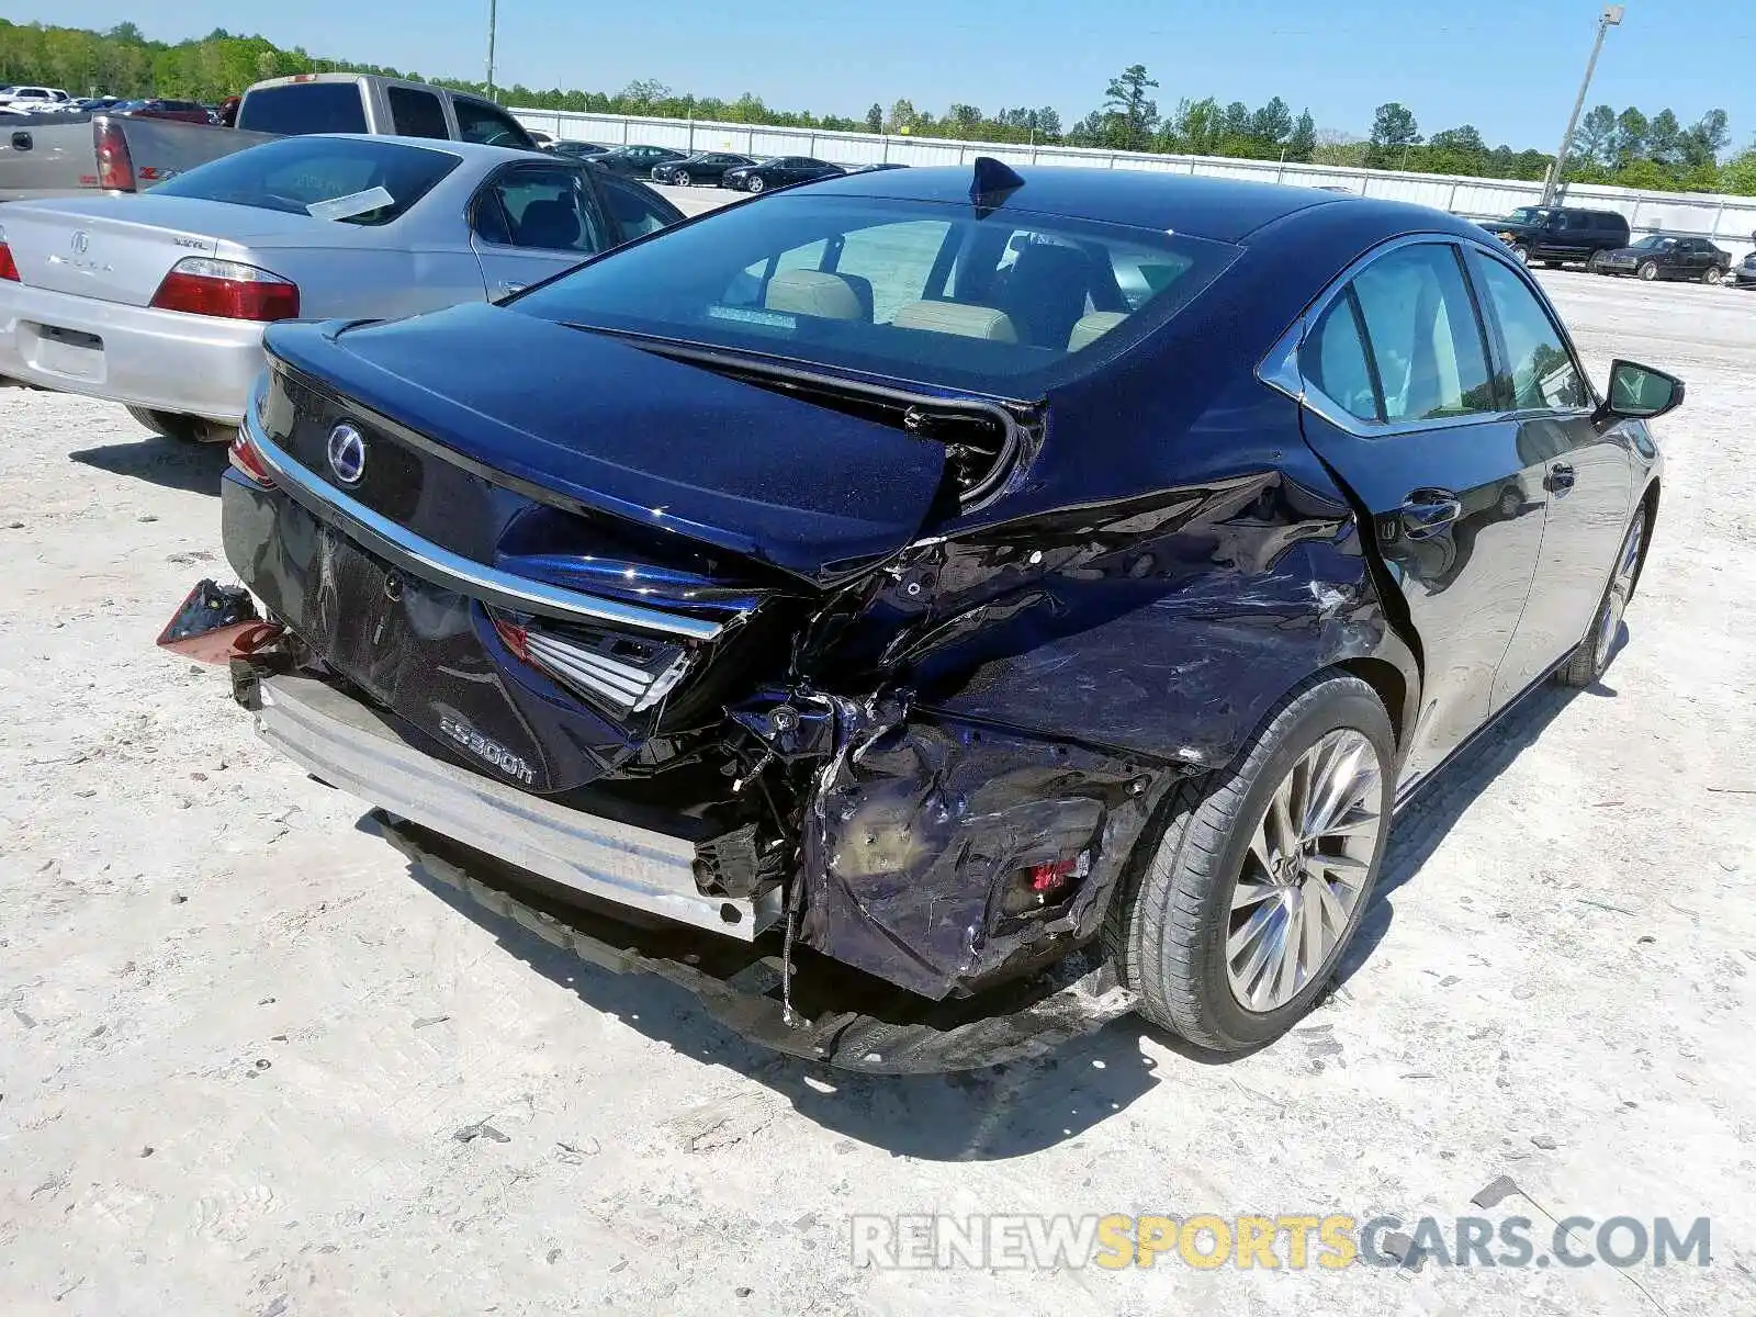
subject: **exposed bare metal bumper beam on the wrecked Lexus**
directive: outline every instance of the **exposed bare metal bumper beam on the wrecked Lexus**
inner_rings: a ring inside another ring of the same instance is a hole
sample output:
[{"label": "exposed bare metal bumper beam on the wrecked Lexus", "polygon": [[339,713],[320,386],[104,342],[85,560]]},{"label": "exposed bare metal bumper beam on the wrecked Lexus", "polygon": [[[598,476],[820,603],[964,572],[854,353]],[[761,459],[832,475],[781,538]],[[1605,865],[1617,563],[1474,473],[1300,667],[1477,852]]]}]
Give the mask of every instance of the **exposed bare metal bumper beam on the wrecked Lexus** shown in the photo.
[{"label": "exposed bare metal bumper beam on the wrecked Lexus", "polygon": [[708,897],[695,843],[569,810],[421,753],[363,702],[314,678],[265,676],[256,730],[320,780],[581,896],[753,941],[780,892]]}]

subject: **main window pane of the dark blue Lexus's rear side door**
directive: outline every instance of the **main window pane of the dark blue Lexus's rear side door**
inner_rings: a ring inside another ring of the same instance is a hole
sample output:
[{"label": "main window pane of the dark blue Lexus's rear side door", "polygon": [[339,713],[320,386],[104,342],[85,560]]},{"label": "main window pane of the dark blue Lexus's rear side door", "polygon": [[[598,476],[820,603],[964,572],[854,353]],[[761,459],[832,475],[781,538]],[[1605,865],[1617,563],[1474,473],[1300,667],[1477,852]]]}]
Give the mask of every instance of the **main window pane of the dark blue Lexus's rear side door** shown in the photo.
[{"label": "main window pane of the dark blue Lexus's rear side door", "polygon": [[1456,248],[1398,248],[1352,283],[1384,395],[1384,420],[1494,411],[1482,328]]}]

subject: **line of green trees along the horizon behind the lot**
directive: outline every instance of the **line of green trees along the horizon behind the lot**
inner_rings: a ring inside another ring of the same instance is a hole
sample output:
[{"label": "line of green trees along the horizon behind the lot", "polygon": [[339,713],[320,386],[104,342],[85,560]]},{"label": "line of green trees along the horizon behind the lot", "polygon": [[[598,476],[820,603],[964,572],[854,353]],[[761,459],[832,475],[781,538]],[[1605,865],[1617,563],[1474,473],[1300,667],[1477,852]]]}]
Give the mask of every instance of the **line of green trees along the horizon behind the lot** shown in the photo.
[{"label": "line of green trees along the horizon behind the lot", "polygon": [[[832,132],[892,132],[1020,146],[1043,142],[1503,179],[1542,179],[1554,165],[1554,156],[1545,151],[1515,151],[1505,144],[1489,148],[1482,133],[1468,123],[1426,137],[1414,111],[1401,102],[1380,105],[1364,137],[1319,130],[1310,109],[1294,114],[1291,104],[1280,97],[1254,109],[1241,100],[1222,104],[1215,97],[1199,100],[1184,97],[1169,114],[1161,114],[1154,95],[1159,83],[1145,65],[1138,63],[1110,79],[1099,107],[1068,126],[1050,105],[985,112],[976,105],[954,102],[945,114],[932,114],[901,98],[889,109],[874,104],[864,116],[852,118],[774,109],[748,91],[736,100],[695,97],[673,91],[651,79],[629,83],[615,93],[541,90],[516,83],[490,90],[485,83],[467,79],[423,77],[414,70],[399,72],[379,65],[325,60],[302,47],[281,49],[263,37],[242,37],[223,28],[202,39],[169,44],[148,40],[133,23],[121,23],[98,33],[0,19],[0,83],[47,83],[76,95],[107,91],[119,97],[158,95],[214,102],[265,77],[328,70],[409,77],[478,95],[493,91],[502,102],[529,109],[764,123]],[[1635,107],[1616,112],[1610,105],[1598,105],[1580,119],[1570,148],[1566,177],[1624,188],[1756,195],[1756,146],[1721,162],[1719,156],[1728,146],[1730,128],[1721,109],[1709,111],[1684,126],[1670,109],[1649,118]]]}]

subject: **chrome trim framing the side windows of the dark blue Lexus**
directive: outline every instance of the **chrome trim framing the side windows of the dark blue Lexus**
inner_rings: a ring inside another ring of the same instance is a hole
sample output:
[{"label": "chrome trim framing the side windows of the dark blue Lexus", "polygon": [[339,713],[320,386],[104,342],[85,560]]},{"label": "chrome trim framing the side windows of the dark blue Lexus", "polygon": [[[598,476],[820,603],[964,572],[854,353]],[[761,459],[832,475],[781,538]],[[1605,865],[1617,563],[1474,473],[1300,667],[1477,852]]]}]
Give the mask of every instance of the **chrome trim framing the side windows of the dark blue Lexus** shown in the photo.
[{"label": "chrome trim framing the side windows of the dark blue Lexus", "polygon": [[[1405,234],[1401,237],[1394,237],[1387,242],[1380,242],[1363,256],[1357,256],[1350,265],[1347,265],[1347,269],[1343,269],[1338,276],[1335,276],[1335,279],[1331,279],[1324,286],[1324,290],[1317,293],[1315,299],[1312,299],[1312,304],[1305,307],[1303,314],[1299,314],[1299,318],[1294,320],[1278,339],[1275,339],[1275,346],[1268,349],[1261,363],[1256,367],[1256,378],[1261,379],[1270,388],[1273,388],[1277,393],[1285,393],[1289,399],[1292,399],[1303,407],[1308,407],[1312,413],[1326,420],[1329,425],[1357,439],[1391,439],[1405,434],[1424,434],[1429,430],[1454,430],[1465,425],[1484,425],[1489,421],[1594,414],[1593,407],[1580,407],[1577,411],[1556,411],[1549,407],[1542,409],[1514,407],[1507,411],[1473,411],[1466,416],[1440,416],[1429,421],[1363,421],[1359,416],[1350,413],[1347,407],[1343,407],[1340,402],[1331,399],[1322,390],[1312,388],[1310,381],[1306,381],[1303,372],[1299,371],[1299,349],[1305,346],[1305,335],[1310,334],[1312,327],[1329,309],[1329,304],[1335,302],[1347,290],[1347,286],[1354,281],[1354,277],[1361,270],[1364,270],[1377,260],[1391,255],[1393,251],[1401,251],[1403,248],[1415,248],[1415,246],[1449,246],[1461,256],[1466,255],[1468,249],[1475,249],[1480,251],[1484,256],[1500,262],[1514,274],[1519,274],[1519,277],[1524,277],[1526,283],[1531,283],[1528,276],[1524,276],[1524,272],[1517,267],[1517,263],[1507,258],[1503,246],[1496,249],[1493,244],[1477,241],[1473,237],[1466,237],[1461,234],[1440,234],[1440,232]],[[1468,260],[1463,260],[1461,263],[1463,263],[1461,274],[1465,277],[1465,283],[1470,286],[1472,295],[1479,297],[1475,290],[1475,277],[1470,274]],[[1598,397],[1596,386],[1591,383],[1591,376],[1587,376],[1586,371],[1580,367],[1579,349],[1573,346],[1573,339],[1572,335],[1568,335],[1566,328],[1556,320],[1554,307],[1549,306],[1549,299],[1538,295],[1536,304],[1544,309],[1544,314],[1549,316],[1551,327],[1556,330],[1556,334],[1561,339],[1561,344],[1568,351],[1568,356],[1573,360],[1573,369],[1579,371],[1579,378],[1586,381],[1587,393],[1591,393],[1596,399]],[[1486,316],[1484,311],[1475,311],[1475,314]],[[1491,325],[1484,325],[1484,328],[1493,330]],[[1489,339],[1493,339],[1493,334],[1489,334]],[[1494,371],[1498,365],[1500,363],[1493,360],[1493,346],[1491,346],[1487,369]]]}]

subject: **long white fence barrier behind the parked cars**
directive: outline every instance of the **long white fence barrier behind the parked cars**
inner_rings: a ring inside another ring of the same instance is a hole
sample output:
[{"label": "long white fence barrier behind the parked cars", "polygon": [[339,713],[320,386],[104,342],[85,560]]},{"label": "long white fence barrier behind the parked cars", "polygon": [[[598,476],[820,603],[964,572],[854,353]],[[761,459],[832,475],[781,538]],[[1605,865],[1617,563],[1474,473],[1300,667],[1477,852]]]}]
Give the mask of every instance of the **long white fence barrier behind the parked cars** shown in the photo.
[{"label": "long white fence barrier behind the parked cars", "polygon": [[[1159,156],[1136,151],[1090,151],[1076,146],[1011,146],[1004,142],[950,142],[936,137],[894,133],[841,133],[818,128],[774,128],[706,119],[648,119],[627,114],[576,114],[571,111],[515,109],[527,128],[555,137],[620,146],[644,142],[678,151],[738,151],[750,156],[817,156],[838,165],[966,165],[985,155],[1011,165],[1075,165],[1083,169],[1148,169],[1166,174],[1210,174],[1219,177],[1289,183],[1305,188],[1347,188],[1364,197],[1435,205],[1477,220],[1507,214],[1515,205],[1542,200],[1542,184],[1524,179],[1472,179],[1449,174],[1407,174],[1389,169],[1342,165],[1298,165],[1277,160],[1231,160],[1226,156]],[[1756,230],[1756,197],[1635,191],[1572,183],[1566,205],[1619,211],[1635,234],[1693,234],[1712,237],[1738,258],[1751,251]]]}]

